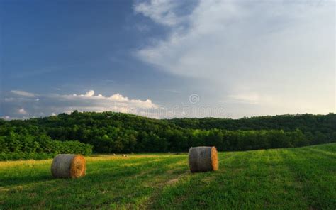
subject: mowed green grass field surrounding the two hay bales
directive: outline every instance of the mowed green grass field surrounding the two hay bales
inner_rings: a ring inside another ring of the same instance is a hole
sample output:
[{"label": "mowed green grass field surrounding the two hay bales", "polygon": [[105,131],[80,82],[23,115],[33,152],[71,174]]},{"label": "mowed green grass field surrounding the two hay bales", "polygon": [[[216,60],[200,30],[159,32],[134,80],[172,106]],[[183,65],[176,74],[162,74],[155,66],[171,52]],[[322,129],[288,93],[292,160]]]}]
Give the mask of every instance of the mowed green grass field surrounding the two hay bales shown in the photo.
[{"label": "mowed green grass field surrounding the two hay bales", "polygon": [[86,177],[52,160],[0,162],[0,209],[336,209],[336,143],[219,153],[191,174],[187,154],[86,157]]}]

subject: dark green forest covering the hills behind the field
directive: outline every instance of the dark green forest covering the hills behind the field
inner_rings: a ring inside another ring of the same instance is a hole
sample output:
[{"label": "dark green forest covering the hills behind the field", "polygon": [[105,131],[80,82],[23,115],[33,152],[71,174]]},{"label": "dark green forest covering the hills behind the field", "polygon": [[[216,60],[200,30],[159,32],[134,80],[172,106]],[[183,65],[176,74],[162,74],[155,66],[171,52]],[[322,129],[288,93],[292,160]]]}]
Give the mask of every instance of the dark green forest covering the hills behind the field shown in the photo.
[{"label": "dark green forest covering the hills behind the field", "polygon": [[0,160],[38,159],[57,153],[186,152],[199,145],[228,151],[332,142],[336,142],[336,114],[158,120],[74,111],[45,118],[0,120]]}]

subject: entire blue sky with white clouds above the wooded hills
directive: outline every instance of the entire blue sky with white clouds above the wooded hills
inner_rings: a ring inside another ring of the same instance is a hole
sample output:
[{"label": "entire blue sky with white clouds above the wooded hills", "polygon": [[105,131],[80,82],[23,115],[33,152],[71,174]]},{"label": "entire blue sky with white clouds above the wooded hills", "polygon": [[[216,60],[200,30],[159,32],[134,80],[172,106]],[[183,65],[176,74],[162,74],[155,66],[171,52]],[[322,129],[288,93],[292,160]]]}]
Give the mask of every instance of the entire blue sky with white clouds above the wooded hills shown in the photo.
[{"label": "entire blue sky with white clouds above the wooded hills", "polygon": [[2,0],[0,117],[336,112],[334,0]]}]

